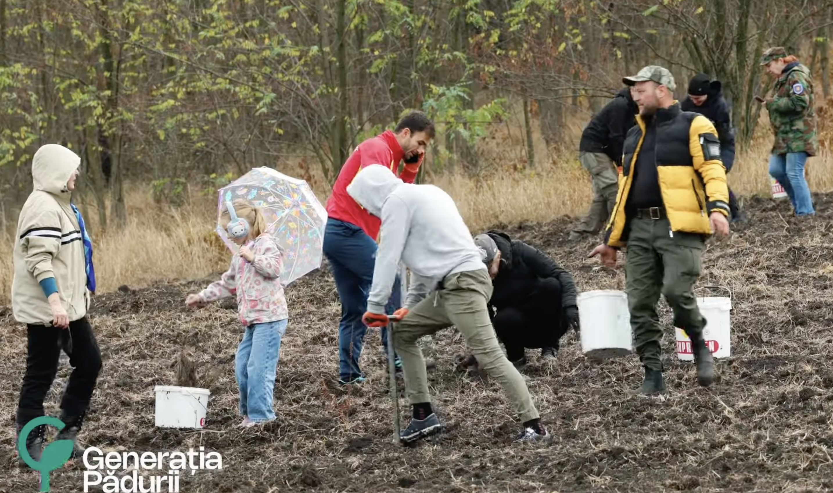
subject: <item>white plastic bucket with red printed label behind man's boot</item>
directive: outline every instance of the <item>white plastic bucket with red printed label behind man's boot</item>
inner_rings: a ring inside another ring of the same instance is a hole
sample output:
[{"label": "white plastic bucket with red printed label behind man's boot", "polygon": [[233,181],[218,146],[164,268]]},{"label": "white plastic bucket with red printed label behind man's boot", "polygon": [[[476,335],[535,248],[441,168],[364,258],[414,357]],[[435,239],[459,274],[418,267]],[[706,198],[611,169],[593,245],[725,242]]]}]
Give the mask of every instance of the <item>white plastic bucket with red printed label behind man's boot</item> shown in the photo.
[{"label": "white plastic bucket with red printed label behind man's boot", "polygon": [[[711,350],[715,358],[728,358],[731,355],[731,330],[730,310],[731,298],[725,296],[711,296],[697,298],[697,307],[706,319],[706,328],[703,329],[703,339],[706,346]],[[682,361],[693,361],[694,353],[691,352],[691,339],[686,335],[685,330],[679,327],[676,332],[677,358]]]}]

